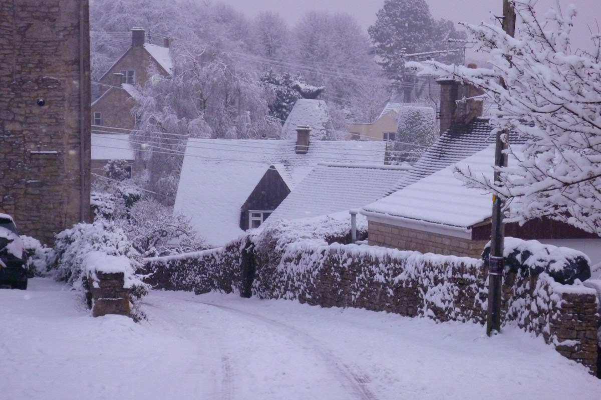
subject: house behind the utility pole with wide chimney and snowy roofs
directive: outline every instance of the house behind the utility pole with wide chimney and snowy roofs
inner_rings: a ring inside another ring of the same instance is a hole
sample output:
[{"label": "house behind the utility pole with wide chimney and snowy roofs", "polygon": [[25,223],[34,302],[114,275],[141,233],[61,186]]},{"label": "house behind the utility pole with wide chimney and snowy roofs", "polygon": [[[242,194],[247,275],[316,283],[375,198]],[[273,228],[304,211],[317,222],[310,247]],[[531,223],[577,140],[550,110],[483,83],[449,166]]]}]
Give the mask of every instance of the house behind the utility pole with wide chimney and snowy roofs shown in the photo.
[{"label": "house behind the utility pole with wide chimney and snowy roofs", "polygon": [[[478,117],[481,104],[457,103],[471,88],[453,80],[441,80],[441,85],[444,133],[401,174],[389,196],[362,207],[361,213],[367,216],[371,245],[480,257],[490,240],[492,196],[464,187],[454,171],[469,167],[492,177],[496,138],[493,127]],[[509,142],[519,146],[520,138],[510,133]],[[557,245],[577,240],[572,246],[584,252],[591,240],[601,245],[597,235],[551,219],[505,224],[505,236]]]}]

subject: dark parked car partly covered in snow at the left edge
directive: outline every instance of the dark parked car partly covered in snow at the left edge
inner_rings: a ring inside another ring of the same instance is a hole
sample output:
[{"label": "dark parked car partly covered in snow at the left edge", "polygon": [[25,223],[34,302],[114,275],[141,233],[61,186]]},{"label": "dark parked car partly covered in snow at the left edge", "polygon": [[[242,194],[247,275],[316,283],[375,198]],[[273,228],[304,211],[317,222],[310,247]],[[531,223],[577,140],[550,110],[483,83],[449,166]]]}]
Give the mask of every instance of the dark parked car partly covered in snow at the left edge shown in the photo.
[{"label": "dark parked car partly covered in snow at the left edge", "polygon": [[13,217],[0,213],[0,287],[27,288],[27,255]]}]

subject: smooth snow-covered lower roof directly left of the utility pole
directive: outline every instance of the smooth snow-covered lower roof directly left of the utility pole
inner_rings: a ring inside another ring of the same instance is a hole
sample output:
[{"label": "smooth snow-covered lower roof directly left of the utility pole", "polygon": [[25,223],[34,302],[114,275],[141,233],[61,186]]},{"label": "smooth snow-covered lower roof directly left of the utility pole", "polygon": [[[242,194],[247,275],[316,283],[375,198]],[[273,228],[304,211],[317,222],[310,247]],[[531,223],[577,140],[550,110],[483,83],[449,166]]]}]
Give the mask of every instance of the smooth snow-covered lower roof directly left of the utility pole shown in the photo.
[{"label": "smooth snow-covered lower roof directly left of the utility pole", "polygon": [[[510,158],[510,163],[513,159]],[[488,145],[456,164],[439,170],[407,187],[363,207],[368,219],[389,219],[416,225],[441,225],[468,233],[471,227],[492,216],[492,196],[464,186],[456,168],[492,179],[495,145]]]}]

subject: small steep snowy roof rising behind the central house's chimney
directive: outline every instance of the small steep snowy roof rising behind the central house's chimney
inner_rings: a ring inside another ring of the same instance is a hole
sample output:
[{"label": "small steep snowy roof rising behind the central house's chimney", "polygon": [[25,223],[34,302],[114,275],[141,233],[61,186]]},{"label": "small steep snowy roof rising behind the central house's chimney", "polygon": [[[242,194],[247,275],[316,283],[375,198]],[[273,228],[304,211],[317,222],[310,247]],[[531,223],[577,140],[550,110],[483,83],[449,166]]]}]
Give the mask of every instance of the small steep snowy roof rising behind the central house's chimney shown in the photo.
[{"label": "small steep snowy roof rising behind the central house's chimney", "polygon": [[296,139],[296,127],[298,125],[309,125],[311,127],[310,137],[313,140],[323,140],[329,136],[334,129],[328,113],[328,106],[323,100],[299,98],[284,127],[282,127],[282,139]]}]

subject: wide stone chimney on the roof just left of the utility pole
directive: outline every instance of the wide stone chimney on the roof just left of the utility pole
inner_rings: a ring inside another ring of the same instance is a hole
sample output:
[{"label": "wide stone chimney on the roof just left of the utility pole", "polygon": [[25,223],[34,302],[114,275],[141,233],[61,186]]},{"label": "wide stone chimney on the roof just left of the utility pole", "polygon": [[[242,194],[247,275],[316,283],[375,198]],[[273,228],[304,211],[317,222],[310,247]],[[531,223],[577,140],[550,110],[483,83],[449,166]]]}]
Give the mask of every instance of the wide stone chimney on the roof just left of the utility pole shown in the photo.
[{"label": "wide stone chimney on the roof just left of the utility pole", "polygon": [[[468,68],[477,68],[477,65],[468,64]],[[472,97],[484,94],[481,89],[472,85],[464,85],[453,77],[441,78],[437,82],[441,85],[441,134],[453,125],[466,125],[474,118],[482,116],[482,100],[472,99]]]}]

